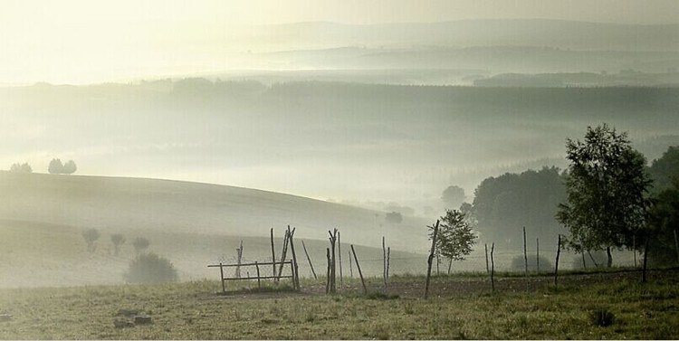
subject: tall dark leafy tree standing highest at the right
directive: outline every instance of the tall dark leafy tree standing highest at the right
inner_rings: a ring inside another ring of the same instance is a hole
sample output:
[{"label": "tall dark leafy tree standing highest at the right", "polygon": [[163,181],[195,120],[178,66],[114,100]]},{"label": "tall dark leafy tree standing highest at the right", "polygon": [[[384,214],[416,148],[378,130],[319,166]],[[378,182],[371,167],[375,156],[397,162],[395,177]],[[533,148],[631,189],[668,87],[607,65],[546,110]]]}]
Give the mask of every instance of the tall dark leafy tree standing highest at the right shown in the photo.
[{"label": "tall dark leafy tree standing highest at the right", "polygon": [[626,132],[606,124],[587,128],[585,141],[567,140],[570,161],[566,177],[567,204],[559,204],[557,219],[570,232],[575,251],[632,248],[644,227],[651,184],[646,159],[632,148]]}]

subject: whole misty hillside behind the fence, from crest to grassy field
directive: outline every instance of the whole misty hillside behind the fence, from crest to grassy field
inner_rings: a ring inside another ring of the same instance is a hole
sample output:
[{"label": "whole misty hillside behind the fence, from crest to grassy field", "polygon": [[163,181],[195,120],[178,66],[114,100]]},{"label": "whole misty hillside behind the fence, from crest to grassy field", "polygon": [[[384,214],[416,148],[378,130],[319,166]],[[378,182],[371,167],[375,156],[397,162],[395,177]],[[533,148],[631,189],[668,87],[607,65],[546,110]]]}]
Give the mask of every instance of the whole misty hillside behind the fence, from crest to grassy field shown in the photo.
[{"label": "whole misty hillside behind the fence, from crest to grassy field", "polygon": [[[401,261],[396,272],[416,272],[426,263],[426,221],[404,217],[385,223],[384,213],[289,194],[225,185],[100,176],[0,172],[0,287],[116,284],[135,255],[131,243],[148,238],[149,251],[171,260],[181,280],[214,278],[206,265],[234,262],[244,243],[244,260],[270,260],[270,228],[277,256],[287,224],[297,228],[323,274],[328,230],[341,232],[347,267],[349,243],[361,245],[364,273],[381,273],[381,236]],[[97,250],[87,252],[81,232],[96,228]],[[114,255],[110,235],[127,242]],[[302,276],[311,276],[301,242]],[[358,246],[357,245],[357,246]],[[398,250],[398,251],[397,251]],[[303,260],[303,261],[302,261]],[[349,270],[345,269],[346,273]]]}]

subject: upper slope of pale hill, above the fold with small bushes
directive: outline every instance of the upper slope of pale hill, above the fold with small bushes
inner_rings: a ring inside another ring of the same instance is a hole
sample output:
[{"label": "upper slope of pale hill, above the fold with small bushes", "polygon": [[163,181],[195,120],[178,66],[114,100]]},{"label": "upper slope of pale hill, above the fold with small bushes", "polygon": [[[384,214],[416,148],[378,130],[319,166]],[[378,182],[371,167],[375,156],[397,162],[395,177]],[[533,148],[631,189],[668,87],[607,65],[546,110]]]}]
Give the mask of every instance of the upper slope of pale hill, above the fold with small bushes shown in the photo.
[{"label": "upper slope of pale hill, above the fold with small bushes", "polygon": [[[102,231],[148,230],[225,236],[268,236],[288,224],[296,236],[379,246],[382,235],[399,250],[426,250],[426,224],[404,217],[300,196],[225,185],[168,180],[0,172],[0,217]],[[434,219],[435,217],[433,217]]]}]

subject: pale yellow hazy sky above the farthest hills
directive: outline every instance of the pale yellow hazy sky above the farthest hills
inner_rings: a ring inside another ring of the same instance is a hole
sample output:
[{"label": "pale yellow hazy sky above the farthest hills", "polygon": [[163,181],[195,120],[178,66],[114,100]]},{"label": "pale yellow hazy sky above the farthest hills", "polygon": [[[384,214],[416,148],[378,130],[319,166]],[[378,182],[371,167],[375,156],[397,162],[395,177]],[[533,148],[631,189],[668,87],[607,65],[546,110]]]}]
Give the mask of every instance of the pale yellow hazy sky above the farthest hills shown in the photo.
[{"label": "pale yellow hazy sky above the farthest hills", "polygon": [[[229,69],[227,51],[266,49],[225,39],[248,25],[383,24],[546,18],[677,24],[674,0],[4,1],[0,84],[91,83]],[[211,46],[208,50],[205,46]],[[215,51],[215,47],[219,50]],[[211,56],[213,56],[211,58]]]}]

